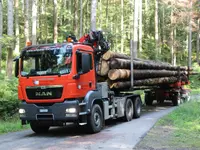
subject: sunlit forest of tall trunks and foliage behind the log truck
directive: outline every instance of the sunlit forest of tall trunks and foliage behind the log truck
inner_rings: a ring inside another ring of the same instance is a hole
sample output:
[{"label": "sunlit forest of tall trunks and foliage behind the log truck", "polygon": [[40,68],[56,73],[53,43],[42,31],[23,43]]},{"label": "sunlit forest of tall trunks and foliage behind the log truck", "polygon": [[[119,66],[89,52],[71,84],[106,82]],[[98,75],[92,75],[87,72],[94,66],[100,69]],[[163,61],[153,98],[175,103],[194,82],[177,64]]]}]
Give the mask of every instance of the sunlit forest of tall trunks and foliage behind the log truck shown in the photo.
[{"label": "sunlit forest of tall trunks and foliage behind the log truck", "polygon": [[112,51],[129,55],[133,40],[138,58],[197,67],[199,8],[197,0],[0,0],[0,118],[18,108],[13,59],[26,42],[61,43],[96,29]]}]

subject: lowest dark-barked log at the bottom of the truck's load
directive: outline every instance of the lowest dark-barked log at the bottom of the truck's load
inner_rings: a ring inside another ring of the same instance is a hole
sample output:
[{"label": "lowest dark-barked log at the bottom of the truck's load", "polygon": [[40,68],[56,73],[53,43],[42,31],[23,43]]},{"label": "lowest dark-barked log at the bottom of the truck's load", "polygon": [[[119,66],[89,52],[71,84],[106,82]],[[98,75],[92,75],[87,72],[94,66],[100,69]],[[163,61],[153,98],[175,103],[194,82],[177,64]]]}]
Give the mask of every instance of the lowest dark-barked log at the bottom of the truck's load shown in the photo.
[{"label": "lowest dark-barked log at the bottom of the truck's load", "polygon": [[[134,80],[134,86],[152,86],[161,84],[171,84],[177,82],[176,77],[152,78],[143,80]],[[128,89],[131,87],[130,81],[114,82],[110,84],[111,89]]]}]

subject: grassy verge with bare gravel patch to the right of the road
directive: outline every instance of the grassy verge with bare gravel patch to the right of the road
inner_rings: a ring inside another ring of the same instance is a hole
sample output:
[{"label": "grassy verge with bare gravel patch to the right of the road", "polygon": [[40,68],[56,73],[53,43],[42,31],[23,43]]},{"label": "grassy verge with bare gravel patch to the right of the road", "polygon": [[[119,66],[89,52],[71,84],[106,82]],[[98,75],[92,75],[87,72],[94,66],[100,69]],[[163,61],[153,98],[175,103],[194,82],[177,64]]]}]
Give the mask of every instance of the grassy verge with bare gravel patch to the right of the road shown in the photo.
[{"label": "grassy verge with bare gravel patch to the right of the road", "polygon": [[160,119],[135,149],[200,149],[200,102],[193,100]]}]

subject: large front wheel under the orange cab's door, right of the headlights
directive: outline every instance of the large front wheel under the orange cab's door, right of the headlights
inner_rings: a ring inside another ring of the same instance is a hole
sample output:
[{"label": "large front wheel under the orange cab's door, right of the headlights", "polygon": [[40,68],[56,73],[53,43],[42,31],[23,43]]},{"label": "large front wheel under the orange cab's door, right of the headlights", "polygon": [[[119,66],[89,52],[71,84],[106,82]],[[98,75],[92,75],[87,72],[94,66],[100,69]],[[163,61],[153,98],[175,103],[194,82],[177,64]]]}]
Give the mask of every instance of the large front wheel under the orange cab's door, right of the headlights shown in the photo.
[{"label": "large front wheel under the orange cab's door, right of the headlights", "polygon": [[91,114],[88,116],[88,131],[90,133],[100,132],[103,128],[103,113],[98,104],[94,104]]}]

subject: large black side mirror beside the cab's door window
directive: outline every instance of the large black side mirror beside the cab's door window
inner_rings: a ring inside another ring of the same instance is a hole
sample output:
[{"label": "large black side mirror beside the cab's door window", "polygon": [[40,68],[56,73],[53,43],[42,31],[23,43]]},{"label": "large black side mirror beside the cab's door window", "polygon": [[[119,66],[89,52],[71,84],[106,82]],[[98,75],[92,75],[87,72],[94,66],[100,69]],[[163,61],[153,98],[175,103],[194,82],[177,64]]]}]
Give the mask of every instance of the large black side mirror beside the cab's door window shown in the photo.
[{"label": "large black side mirror beside the cab's door window", "polygon": [[89,54],[82,53],[82,73],[90,71],[91,57]]}]

